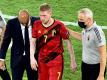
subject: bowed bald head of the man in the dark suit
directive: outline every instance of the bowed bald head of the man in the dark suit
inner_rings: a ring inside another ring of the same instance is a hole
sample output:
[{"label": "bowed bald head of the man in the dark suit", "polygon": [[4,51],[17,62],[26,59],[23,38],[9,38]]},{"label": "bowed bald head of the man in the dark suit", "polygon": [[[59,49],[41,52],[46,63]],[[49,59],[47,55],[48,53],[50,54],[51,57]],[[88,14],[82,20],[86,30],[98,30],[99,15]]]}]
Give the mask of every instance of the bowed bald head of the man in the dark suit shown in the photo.
[{"label": "bowed bald head of the man in the dark suit", "polygon": [[29,15],[26,12],[21,12],[18,16],[18,19],[21,24],[28,24],[29,22]]}]

